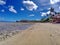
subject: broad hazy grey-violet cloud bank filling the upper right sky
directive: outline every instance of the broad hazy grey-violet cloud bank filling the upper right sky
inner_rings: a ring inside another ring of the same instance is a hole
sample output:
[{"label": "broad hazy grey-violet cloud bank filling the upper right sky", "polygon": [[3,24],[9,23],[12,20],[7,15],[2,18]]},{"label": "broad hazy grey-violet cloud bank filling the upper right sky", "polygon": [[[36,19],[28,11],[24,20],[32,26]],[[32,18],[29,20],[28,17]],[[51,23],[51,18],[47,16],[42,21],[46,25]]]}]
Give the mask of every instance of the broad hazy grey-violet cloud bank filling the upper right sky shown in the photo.
[{"label": "broad hazy grey-violet cloud bank filling the upper right sky", "polygon": [[[35,0],[36,2],[38,2],[40,9],[42,8],[41,6],[43,6],[44,10],[49,7],[53,7],[55,9],[55,11],[60,11],[59,10],[59,6],[60,6],[60,0]],[[49,9],[48,9],[49,10]]]}]

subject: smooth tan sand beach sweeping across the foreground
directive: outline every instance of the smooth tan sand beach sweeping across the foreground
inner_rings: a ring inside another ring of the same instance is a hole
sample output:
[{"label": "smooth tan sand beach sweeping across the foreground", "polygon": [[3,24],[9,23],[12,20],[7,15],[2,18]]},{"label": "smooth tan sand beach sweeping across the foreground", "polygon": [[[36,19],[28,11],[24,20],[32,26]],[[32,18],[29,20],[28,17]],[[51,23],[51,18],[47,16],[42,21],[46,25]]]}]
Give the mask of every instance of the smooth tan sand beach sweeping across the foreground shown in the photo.
[{"label": "smooth tan sand beach sweeping across the foreground", "polygon": [[60,45],[60,24],[36,23],[0,45]]}]

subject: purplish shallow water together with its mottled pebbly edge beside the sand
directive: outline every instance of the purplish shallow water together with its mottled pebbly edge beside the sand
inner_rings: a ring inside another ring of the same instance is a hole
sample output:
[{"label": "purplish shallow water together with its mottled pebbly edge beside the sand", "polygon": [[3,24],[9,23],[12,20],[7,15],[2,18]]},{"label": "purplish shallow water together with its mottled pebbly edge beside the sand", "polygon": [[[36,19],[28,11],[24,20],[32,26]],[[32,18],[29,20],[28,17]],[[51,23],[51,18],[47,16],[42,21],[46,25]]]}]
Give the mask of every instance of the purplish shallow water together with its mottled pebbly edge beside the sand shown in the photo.
[{"label": "purplish shallow water together with its mottled pebbly edge beside the sand", "polygon": [[32,23],[0,22],[0,42],[4,41],[22,30],[29,28]]}]

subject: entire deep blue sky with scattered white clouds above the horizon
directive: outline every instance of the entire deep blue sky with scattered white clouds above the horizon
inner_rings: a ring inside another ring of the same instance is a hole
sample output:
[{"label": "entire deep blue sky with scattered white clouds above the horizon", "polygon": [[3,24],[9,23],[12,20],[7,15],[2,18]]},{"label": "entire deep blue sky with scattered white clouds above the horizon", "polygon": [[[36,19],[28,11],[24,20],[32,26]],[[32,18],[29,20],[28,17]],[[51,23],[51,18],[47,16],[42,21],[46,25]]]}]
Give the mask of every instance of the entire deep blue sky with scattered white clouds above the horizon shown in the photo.
[{"label": "entire deep blue sky with scattered white clouds above the horizon", "polygon": [[60,11],[60,0],[0,0],[0,21],[40,20],[50,7]]}]

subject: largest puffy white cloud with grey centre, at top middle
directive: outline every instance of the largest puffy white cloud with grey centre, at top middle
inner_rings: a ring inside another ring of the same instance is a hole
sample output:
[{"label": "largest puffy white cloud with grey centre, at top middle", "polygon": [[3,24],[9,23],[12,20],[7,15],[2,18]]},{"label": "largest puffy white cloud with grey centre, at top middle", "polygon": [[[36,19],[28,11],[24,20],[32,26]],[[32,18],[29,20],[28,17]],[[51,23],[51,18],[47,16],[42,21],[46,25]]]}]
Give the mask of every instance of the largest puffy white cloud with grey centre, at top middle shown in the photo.
[{"label": "largest puffy white cloud with grey centre, at top middle", "polygon": [[30,11],[36,10],[38,8],[38,6],[33,1],[23,1],[23,4]]}]

